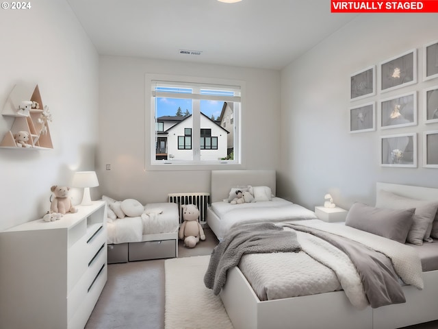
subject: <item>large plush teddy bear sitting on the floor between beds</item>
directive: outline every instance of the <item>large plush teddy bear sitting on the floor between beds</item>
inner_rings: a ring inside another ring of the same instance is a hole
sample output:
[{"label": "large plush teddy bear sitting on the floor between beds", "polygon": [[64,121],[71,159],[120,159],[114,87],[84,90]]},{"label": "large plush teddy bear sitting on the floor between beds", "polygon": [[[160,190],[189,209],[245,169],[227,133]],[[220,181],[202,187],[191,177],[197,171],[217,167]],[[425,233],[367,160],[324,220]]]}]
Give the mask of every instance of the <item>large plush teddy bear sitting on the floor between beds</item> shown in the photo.
[{"label": "large plush teddy bear sitting on the floor between beds", "polygon": [[198,223],[199,210],[194,204],[183,205],[183,223],[179,228],[178,237],[184,240],[185,247],[193,248],[199,239],[205,240],[203,227]]}]

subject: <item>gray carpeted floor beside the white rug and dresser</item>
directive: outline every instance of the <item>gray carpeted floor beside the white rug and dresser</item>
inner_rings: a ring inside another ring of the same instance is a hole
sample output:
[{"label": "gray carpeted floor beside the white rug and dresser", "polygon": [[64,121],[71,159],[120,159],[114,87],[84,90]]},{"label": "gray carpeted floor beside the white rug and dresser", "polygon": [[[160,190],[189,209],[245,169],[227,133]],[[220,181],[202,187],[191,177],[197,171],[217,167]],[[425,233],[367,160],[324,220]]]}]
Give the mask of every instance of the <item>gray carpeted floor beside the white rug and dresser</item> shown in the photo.
[{"label": "gray carpeted floor beside the white rug and dresser", "polygon": [[[205,230],[195,248],[178,245],[178,258],[211,254],[218,240]],[[163,329],[164,259],[108,265],[108,280],[85,329]],[[208,328],[208,327],[207,327]]]}]

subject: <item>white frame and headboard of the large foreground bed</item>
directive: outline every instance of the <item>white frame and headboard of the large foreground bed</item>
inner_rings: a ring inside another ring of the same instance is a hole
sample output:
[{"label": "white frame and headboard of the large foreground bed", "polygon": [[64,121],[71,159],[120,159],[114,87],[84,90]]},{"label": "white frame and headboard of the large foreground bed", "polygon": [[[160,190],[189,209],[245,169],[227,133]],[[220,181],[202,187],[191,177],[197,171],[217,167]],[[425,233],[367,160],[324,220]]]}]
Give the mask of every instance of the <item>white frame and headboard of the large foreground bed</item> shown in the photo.
[{"label": "white frame and headboard of the large foreground bed", "polygon": [[[249,172],[248,175],[253,173]],[[234,182],[233,179],[229,181]],[[211,192],[214,192],[213,187],[212,181]],[[376,188],[413,199],[438,200],[438,188],[387,183],[377,183]],[[394,329],[438,319],[438,271],[424,272],[423,279],[422,291],[411,286],[403,287],[407,300],[404,304],[374,309],[368,306],[365,310],[357,310],[344,291],[261,302],[240,269],[234,267],[227,274],[227,284],[220,297],[235,329],[280,329],[286,326],[300,329]]]}]

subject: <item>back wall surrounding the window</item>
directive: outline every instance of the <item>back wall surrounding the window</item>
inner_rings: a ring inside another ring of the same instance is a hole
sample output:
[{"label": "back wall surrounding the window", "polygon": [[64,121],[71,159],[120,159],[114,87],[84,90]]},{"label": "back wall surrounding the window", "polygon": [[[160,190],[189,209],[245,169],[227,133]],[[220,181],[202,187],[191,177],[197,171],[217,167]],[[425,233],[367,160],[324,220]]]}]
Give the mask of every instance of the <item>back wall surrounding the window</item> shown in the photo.
[{"label": "back wall surrounding the window", "polygon": [[[167,193],[210,191],[210,167],[196,171],[146,170],[150,154],[149,113],[145,116],[145,73],[243,80],[243,168],[276,169],[280,143],[280,73],[233,66],[144,58],[99,59],[99,149],[96,171],[101,192],[115,199],[166,202]],[[149,93],[148,93],[149,94]],[[146,136],[146,138],[145,138]],[[146,139],[146,141],[145,141]],[[105,170],[105,164],[111,170]],[[167,168],[166,168],[167,169]]]}]

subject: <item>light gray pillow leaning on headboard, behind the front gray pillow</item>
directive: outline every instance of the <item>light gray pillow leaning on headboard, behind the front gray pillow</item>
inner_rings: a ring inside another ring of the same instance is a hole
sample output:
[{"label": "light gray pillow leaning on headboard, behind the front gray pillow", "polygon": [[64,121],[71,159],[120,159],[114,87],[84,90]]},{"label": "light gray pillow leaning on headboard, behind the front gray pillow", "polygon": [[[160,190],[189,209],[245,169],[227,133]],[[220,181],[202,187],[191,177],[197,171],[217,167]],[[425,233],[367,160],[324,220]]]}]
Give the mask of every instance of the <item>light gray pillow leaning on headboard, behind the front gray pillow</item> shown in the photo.
[{"label": "light gray pillow leaning on headboard, behind the front gray pillow", "polygon": [[376,200],[376,207],[378,208],[415,208],[415,215],[413,216],[413,223],[407,241],[414,245],[422,245],[423,240],[432,242],[430,232],[437,215],[438,201],[411,199],[385,190],[377,192]]}]

